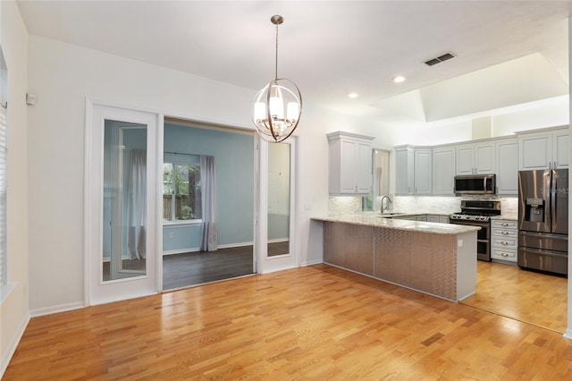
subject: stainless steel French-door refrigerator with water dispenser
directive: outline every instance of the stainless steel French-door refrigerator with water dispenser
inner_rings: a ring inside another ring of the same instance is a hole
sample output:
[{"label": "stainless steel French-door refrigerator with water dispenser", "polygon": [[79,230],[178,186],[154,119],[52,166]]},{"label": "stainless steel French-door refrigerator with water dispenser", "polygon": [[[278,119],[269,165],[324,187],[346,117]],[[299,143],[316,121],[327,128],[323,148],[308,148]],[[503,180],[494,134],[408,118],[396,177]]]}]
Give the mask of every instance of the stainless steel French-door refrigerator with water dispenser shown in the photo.
[{"label": "stainless steel French-door refrigerator with water dispenser", "polygon": [[568,275],[568,169],[518,172],[518,266]]}]

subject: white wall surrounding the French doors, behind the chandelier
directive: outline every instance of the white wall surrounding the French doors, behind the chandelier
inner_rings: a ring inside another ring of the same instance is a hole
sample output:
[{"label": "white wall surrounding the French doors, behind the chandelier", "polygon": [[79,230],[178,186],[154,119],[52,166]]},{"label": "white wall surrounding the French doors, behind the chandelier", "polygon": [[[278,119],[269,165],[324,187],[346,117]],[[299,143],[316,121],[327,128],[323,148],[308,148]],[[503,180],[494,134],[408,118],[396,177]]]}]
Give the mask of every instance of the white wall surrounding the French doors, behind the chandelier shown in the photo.
[{"label": "white wall surrounding the French doors, behind the chandelier", "polygon": [[[83,160],[85,97],[162,111],[172,116],[251,129],[255,90],[108,55],[48,38],[29,37],[29,304],[34,314],[83,301]],[[300,261],[321,261],[307,250],[309,217],[327,212],[330,131],[364,133],[363,120],[304,105],[299,125]],[[379,133],[382,134],[382,131]]]}]

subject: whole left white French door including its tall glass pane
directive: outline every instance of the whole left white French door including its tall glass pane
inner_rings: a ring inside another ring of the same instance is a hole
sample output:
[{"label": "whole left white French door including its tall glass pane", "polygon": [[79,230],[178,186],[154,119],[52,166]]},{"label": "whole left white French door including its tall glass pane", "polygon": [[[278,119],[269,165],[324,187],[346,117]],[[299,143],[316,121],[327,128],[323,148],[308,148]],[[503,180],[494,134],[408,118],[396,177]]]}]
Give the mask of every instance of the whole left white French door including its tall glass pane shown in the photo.
[{"label": "whole left white French door including its tall glass pane", "polygon": [[159,291],[162,115],[86,104],[85,300]]}]

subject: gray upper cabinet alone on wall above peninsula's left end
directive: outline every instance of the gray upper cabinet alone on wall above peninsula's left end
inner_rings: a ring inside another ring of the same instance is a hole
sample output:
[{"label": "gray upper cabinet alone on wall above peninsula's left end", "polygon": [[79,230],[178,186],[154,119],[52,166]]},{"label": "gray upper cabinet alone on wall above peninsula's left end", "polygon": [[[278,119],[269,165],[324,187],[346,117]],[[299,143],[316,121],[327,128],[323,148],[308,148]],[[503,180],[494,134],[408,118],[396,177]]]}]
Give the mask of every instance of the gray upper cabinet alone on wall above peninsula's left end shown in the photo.
[{"label": "gray upper cabinet alone on wall above peninsula's left end", "polygon": [[329,133],[327,137],[330,194],[368,194],[372,184],[374,138],[343,131]]}]

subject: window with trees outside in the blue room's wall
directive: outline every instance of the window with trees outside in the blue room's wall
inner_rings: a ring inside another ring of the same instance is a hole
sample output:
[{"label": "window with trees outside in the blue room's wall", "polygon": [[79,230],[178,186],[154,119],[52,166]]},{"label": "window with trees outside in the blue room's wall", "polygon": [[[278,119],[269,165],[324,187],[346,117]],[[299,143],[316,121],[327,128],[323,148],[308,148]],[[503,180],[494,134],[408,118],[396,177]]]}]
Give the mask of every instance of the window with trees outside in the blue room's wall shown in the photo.
[{"label": "window with trees outside in the blue room's wall", "polygon": [[200,157],[165,156],[163,165],[163,221],[201,218]]}]

